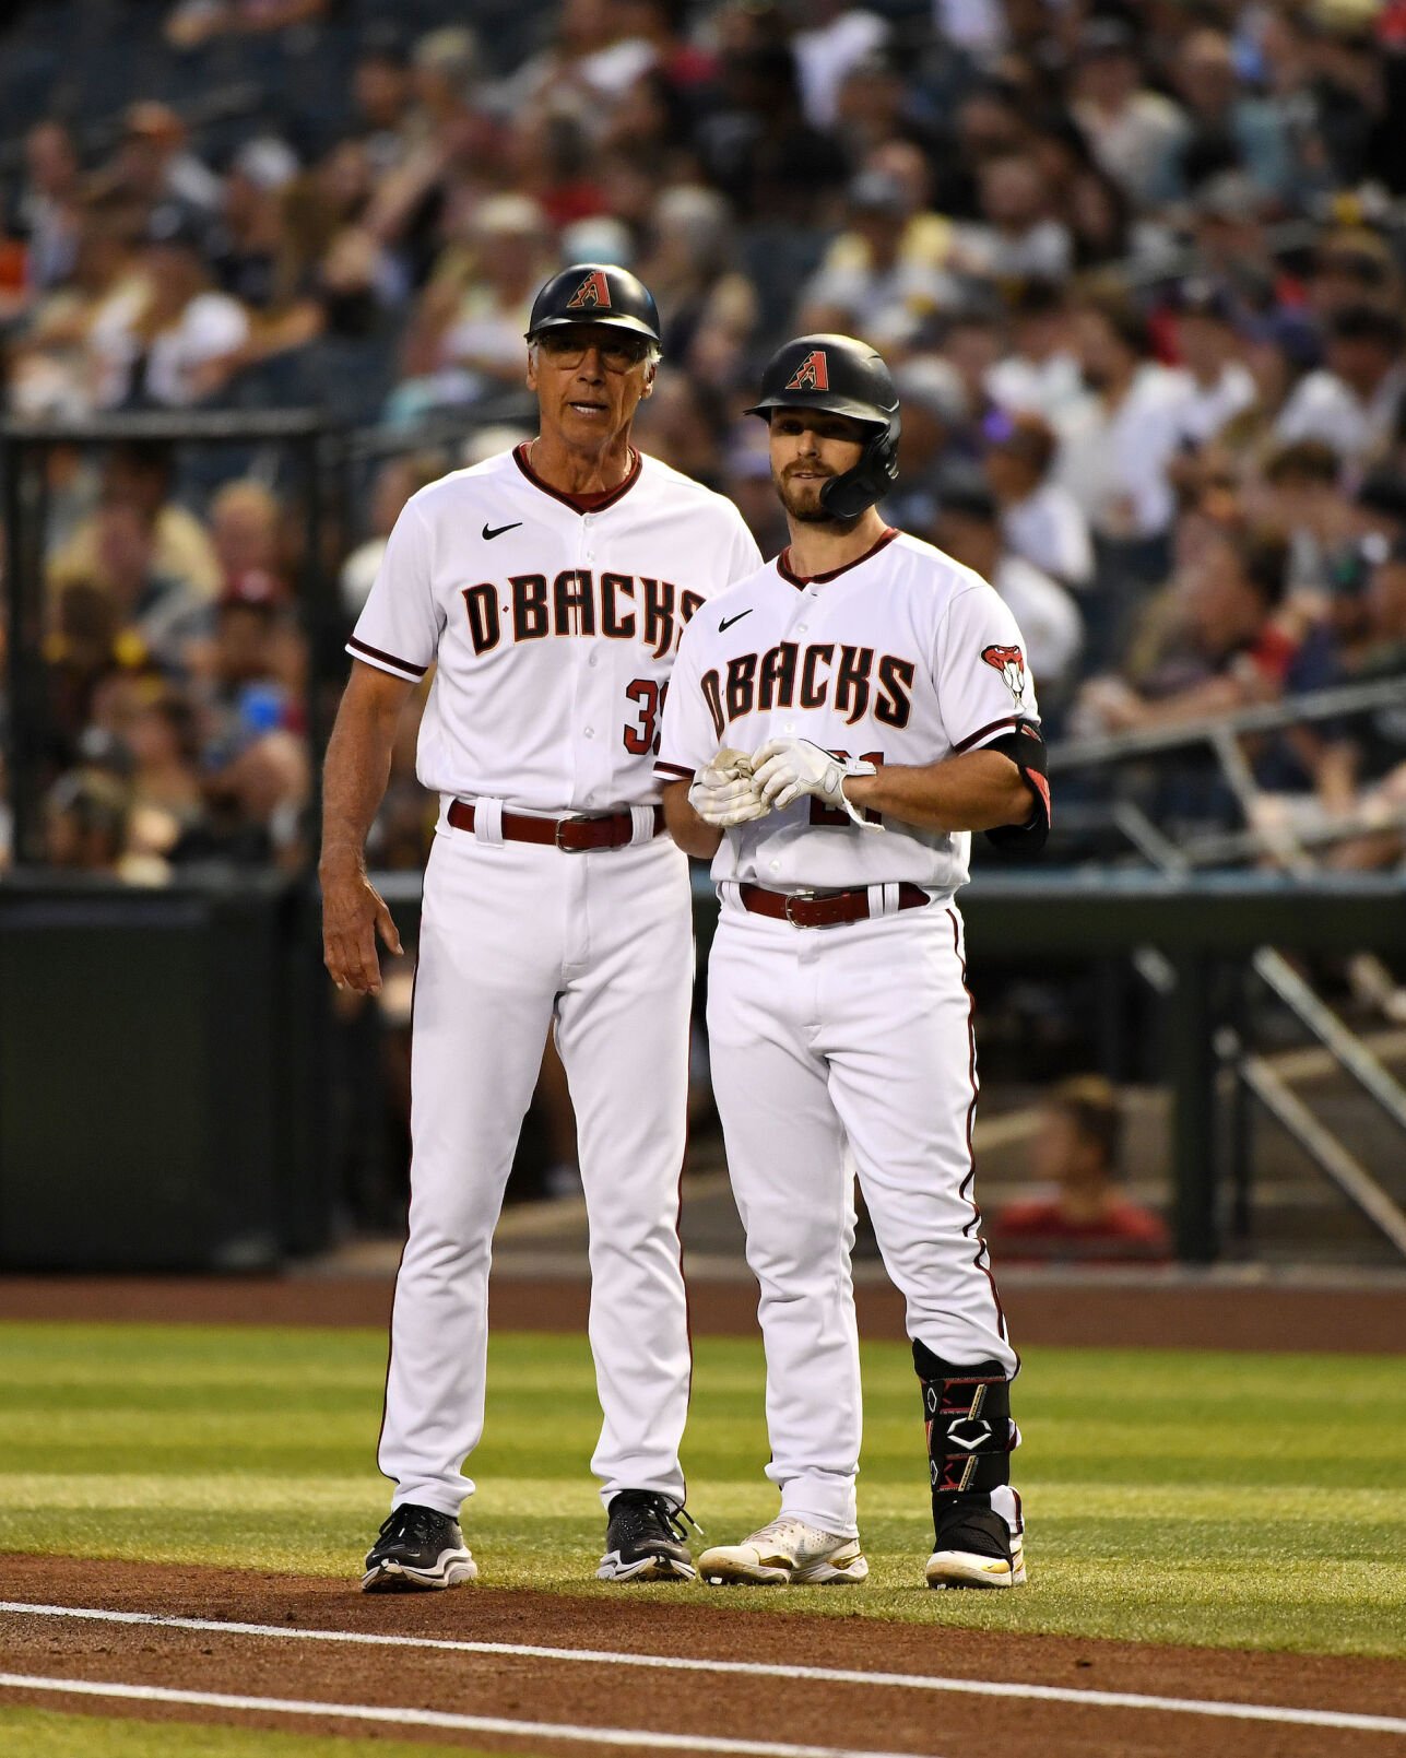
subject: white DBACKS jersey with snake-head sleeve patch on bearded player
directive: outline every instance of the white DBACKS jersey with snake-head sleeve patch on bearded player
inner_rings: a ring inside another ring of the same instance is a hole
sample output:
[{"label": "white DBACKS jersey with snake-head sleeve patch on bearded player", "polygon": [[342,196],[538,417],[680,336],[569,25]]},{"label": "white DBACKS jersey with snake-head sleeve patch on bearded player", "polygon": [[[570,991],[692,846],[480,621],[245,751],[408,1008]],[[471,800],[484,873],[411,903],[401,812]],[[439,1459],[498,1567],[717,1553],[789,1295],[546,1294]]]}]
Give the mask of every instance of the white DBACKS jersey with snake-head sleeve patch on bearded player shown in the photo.
[{"label": "white DBACKS jersey with snake-head sleeve patch on bearded player", "polygon": [[[1039,726],[1021,631],[981,575],[895,529],[810,580],[787,557],[689,624],[661,775],[692,777],[719,745],[756,751],[791,737],[870,763],[924,765],[977,751],[1018,723]],[[910,881],[946,897],[967,881],[968,832],[893,817],[882,826],[861,830],[807,796],[729,830],[714,879],[773,891]]]}]

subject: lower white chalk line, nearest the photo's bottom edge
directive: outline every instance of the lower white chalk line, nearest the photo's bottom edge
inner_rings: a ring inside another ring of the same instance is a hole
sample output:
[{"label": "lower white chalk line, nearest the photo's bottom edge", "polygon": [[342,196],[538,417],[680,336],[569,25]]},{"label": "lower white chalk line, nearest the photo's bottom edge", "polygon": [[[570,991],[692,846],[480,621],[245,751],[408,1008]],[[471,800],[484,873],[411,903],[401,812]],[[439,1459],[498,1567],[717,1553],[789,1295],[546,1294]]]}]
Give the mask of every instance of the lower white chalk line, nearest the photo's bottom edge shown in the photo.
[{"label": "lower white chalk line, nearest the photo's bottom edge", "polygon": [[656,1733],[652,1728],[573,1728],[557,1721],[506,1716],[459,1716],[445,1709],[385,1709],[380,1704],[318,1704],[290,1696],[234,1696],[228,1691],[174,1691],[160,1684],[105,1679],[46,1679],[0,1672],[2,1691],[56,1691],[63,1696],[120,1696],[132,1704],[188,1704],[195,1709],[244,1709],[274,1716],[323,1716],[332,1721],[387,1721],[397,1728],[455,1728],[460,1733],[511,1733],[524,1740],[573,1740],[582,1746],[640,1746],[647,1751],[731,1753],[733,1758],[914,1758],[912,1753],[858,1751],[851,1746],[780,1746],[728,1740],[707,1733]]}]

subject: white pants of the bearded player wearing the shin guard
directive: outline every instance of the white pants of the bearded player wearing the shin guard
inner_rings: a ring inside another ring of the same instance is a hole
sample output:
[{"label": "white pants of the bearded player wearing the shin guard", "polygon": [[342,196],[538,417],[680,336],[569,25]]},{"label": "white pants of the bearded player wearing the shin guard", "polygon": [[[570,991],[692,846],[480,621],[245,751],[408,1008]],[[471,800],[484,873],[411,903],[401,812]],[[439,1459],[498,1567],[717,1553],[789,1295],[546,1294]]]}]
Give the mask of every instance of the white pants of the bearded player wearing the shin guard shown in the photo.
[{"label": "white pants of the bearded player wearing the shin guard", "polygon": [[845,1536],[861,1438],[856,1173],[909,1336],[949,1362],[1018,1364],[972,1199],[963,974],[961,916],[942,904],[793,928],[728,902],[708,963],[714,1093],[761,1285],[766,1475],[782,1514]]}]

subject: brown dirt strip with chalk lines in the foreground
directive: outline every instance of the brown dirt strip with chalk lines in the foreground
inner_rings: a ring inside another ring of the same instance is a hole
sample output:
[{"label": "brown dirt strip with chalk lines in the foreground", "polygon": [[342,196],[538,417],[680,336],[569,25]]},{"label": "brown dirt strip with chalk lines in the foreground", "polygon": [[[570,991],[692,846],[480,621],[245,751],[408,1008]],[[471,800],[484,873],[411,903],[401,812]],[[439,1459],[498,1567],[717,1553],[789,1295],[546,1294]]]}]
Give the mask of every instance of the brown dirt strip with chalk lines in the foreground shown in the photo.
[{"label": "brown dirt strip with chalk lines in the foreground", "polygon": [[[601,1596],[466,1587],[448,1595],[359,1595],[352,1582],[214,1568],[95,1563],[76,1558],[0,1558],[0,1600],[165,1617],[271,1626],[267,1633],[181,1630],[0,1612],[0,1670],[26,1677],[121,1681],[311,1704],[390,1705],[496,1716],[575,1728],[823,1744],[956,1758],[1011,1751],[1040,1758],[1387,1758],[1401,1733],[1244,1721],[1156,1705],[1042,1698],[1040,1688],[1172,1696],[1199,1704],[1257,1704],[1279,1711],[1399,1716],[1406,1667],[1390,1661],[1220,1649],[1174,1649],[1062,1637],[988,1635],[935,1626],[875,1626],[772,1612],[740,1616],[699,1603],[699,1589],[634,1587]],[[842,1589],[840,1589],[842,1591]],[[475,1644],[592,1651],[568,1660],[515,1653],[445,1653],[417,1645],[350,1645],[278,1631],[346,1631]],[[845,1668],[884,1681],[749,1677],[640,1668],[626,1656]],[[613,1656],[613,1660],[612,1660]],[[905,1688],[891,1675],[1002,1681],[1030,1696],[974,1696]],[[4,1691],[32,1702],[109,1712],[100,1698]],[[139,1704],[118,1712],[149,1719],[237,1719],[288,1728],[267,1711]],[[366,1732],[336,1716],[299,1718],[320,1732]],[[473,1735],[415,1726],[406,1739],[520,1749],[522,1735]],[[506,1740],[506,1744],[504,1744]],[[534,1733],[533,1751],[622,1751]],[[636,1747],[638,1749],[638,1747]]]}]

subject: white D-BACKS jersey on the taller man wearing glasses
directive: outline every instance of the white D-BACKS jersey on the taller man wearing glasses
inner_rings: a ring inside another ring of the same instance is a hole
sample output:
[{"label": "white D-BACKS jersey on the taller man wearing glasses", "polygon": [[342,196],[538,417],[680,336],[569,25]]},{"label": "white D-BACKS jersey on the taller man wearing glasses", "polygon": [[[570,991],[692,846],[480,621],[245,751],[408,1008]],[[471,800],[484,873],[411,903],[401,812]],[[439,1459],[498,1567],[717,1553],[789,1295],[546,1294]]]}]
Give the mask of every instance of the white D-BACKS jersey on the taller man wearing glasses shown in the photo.
[{"label": "white D-BACKS jersey on the taller man wearing glasses", "polygon": [[538,812],[649,805],[684,626],[759,561],[733,503],[668,464],[636,454],[617,489],[573,498],[518,447],[406,503],[346,650],[408,680],[438,666],[425,788]]}]

